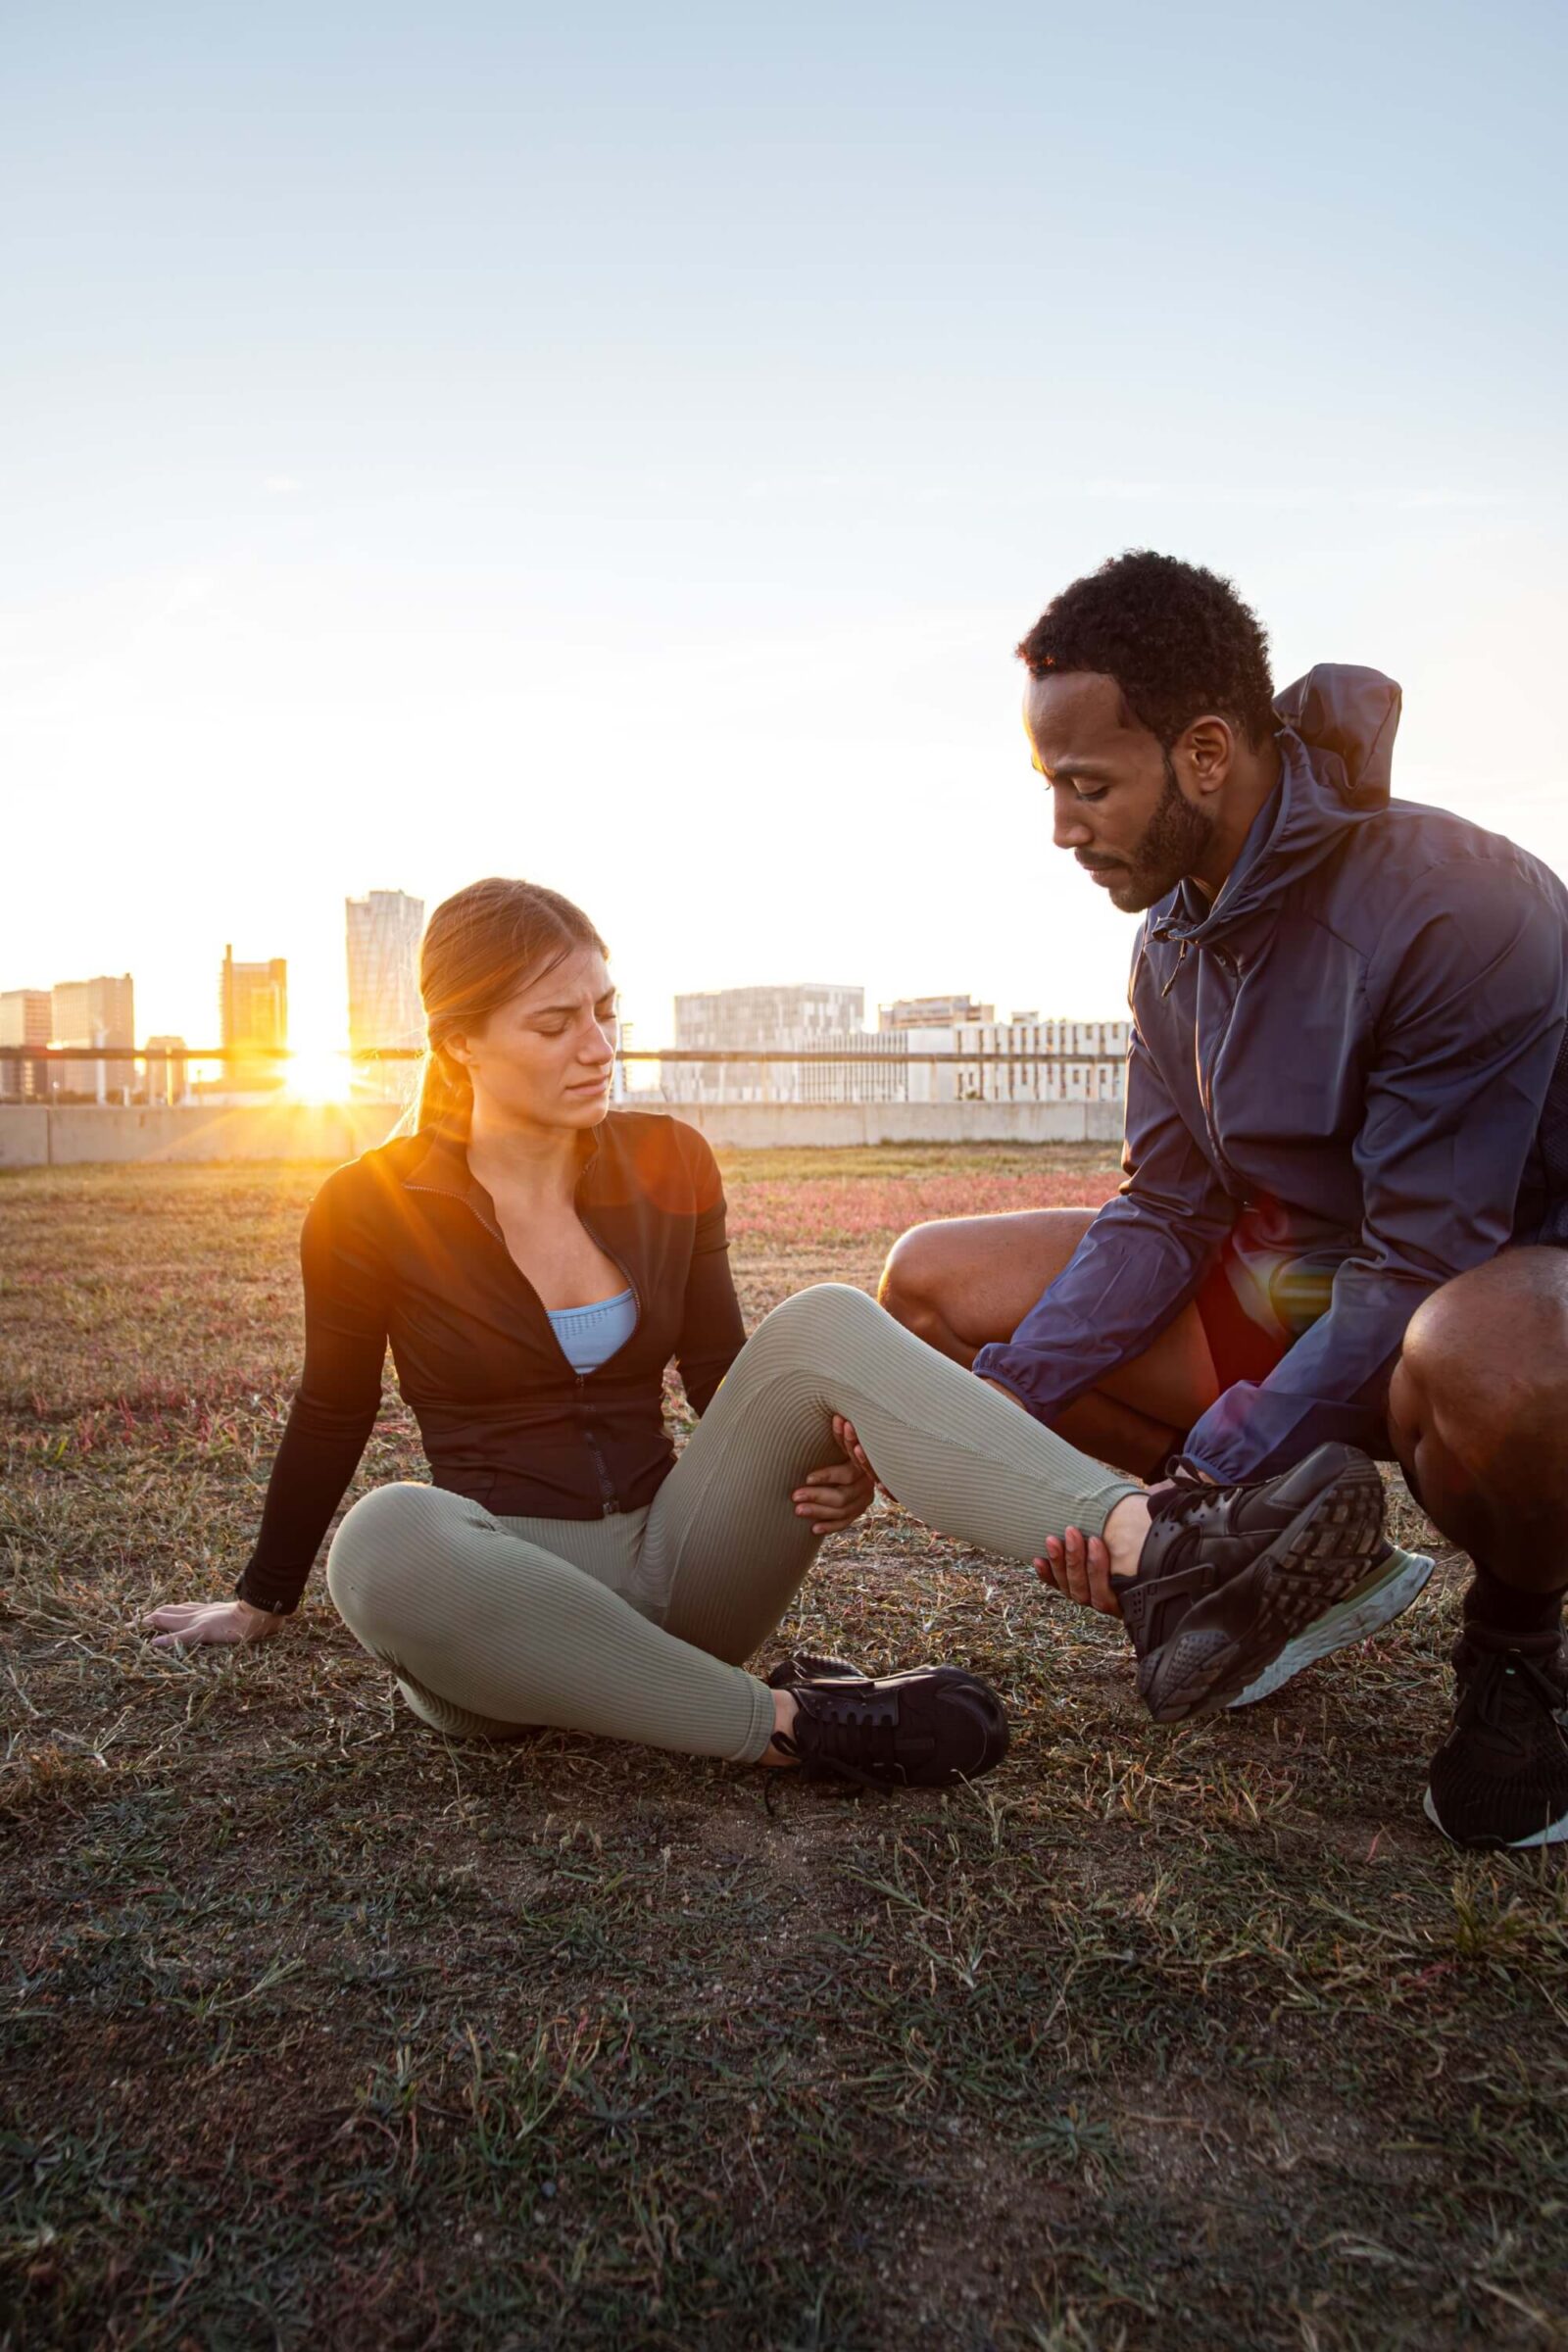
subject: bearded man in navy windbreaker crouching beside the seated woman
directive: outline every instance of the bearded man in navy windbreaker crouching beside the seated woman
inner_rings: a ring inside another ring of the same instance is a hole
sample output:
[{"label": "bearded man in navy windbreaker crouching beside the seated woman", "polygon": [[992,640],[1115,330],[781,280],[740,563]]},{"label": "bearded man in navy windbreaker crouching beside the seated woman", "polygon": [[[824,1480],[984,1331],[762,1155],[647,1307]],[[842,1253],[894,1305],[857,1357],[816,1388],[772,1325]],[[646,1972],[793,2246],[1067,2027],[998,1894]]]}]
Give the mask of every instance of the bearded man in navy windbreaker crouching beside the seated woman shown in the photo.
[{"label": "bearded man in navy windbreaker crouching beside the seated woman", "polygon": [[[1396,1458],[1474,1562],[1427,1813],[1465,1846],[1568,1839],[1568,891],[1389,800],[1392,680],[1331,666],[1274,696],[1213,572],[1124,555],[1018,652],[1056,844],[1147,910],[1126,1181],[1098,1214],[917,1225],[884,1305],[1077,1446],[1178,1482],[1154,1573],[1077,1529],[1037,1564],[1124,1616],[1161,1719],[1187,1712],[1199,1623],[1269,1606],[1239,1576],[1265,1482]],[[1387,1555],[1269,1686],[1425,1573]]]}]

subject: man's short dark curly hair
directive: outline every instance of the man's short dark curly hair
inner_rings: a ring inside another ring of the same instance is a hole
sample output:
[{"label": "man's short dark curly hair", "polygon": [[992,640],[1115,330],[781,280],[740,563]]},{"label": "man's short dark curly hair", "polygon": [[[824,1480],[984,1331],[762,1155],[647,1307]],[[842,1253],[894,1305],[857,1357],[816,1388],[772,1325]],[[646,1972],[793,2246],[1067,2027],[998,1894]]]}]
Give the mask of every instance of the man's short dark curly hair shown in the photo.
[{"label": "man's short dark curly hair", "polygon": [[1098,670],[1114,677],[1140,727],[1166,750],[1206,710],[1267,743],[1279,727],[1269,640],[1218,572],[1131,548],[1063,588],[1018,659],[1032,677]]}]

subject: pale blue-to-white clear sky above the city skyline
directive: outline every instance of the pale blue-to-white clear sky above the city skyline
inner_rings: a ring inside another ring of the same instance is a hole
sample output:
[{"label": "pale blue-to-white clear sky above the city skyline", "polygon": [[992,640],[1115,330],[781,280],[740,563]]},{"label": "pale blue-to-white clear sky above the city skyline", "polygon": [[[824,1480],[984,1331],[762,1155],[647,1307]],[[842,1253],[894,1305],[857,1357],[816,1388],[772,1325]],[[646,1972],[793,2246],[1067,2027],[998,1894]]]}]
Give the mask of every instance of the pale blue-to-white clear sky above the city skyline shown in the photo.
[{"label": "pale blue-to-white clear sky above the city skyline", "polygon": [[[567,21],[571,16],[571,21]],[[1396,788],[1568,868],[1568,16],[7,9],[0,988],[348,891],[578,896],[670,993],[1117,1011],[1018,635],[1157,546]]]}]

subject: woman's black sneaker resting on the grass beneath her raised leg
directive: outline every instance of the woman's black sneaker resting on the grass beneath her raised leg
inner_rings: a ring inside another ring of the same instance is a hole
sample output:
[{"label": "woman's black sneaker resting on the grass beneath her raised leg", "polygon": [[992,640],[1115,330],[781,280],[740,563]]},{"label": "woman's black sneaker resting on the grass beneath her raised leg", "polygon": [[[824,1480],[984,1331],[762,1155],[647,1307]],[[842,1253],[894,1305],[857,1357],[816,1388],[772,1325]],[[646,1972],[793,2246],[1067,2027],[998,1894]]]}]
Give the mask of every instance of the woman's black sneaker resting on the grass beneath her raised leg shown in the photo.
[{"label": "woman's black sneaker resting on the grass beneath her raised leg", "polygon": [[870,1677],[837,1658],[785,1658],[769,1682],[795,1693],[795,1729],[776,1733],[773,1745],[799,1762],[806,1780],[950,1788],[994,1771],[1006,1755],[1001,1700],[957,1665]]}]

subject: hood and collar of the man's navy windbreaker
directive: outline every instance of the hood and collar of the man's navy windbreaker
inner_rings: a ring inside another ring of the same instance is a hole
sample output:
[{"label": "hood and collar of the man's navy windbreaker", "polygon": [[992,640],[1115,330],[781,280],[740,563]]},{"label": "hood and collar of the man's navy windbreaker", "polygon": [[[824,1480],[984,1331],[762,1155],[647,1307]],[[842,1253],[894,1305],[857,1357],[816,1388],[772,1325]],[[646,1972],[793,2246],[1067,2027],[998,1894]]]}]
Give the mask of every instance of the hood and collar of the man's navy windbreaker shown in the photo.
[{"label": "hood and collar of the man's navy windbreaker", "polygon": [[1387,809],[1399,706],[1392,677],[1345,661],[1321,661],[1276,694],[1279,790],[1213,906],[1182,882],[1152,910],[1150,936],[1220,938],[1319,866],[1349,826]]}]

